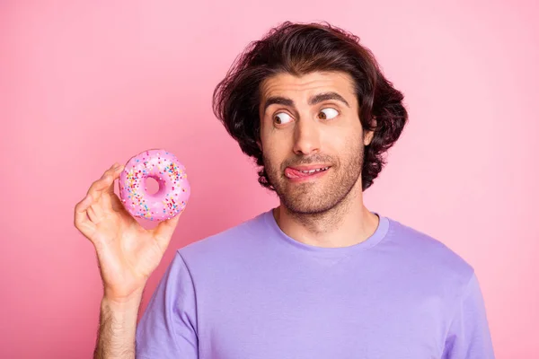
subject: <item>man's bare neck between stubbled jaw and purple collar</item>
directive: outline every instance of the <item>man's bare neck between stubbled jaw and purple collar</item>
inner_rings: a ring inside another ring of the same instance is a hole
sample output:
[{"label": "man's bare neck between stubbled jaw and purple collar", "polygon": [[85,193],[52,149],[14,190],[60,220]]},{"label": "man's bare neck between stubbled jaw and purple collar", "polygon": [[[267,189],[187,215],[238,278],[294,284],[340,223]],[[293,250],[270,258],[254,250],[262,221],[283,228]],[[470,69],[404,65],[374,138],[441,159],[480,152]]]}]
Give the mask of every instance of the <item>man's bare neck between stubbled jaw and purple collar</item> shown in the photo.
[{"label": "man's bare neck between stubbled jaw and purple collar", "polygon": [[364,206],[360,188],[352,189],[340,204],[323,213],[298,214],[281,203],[273,215],[281,231],[296,241],[317,247],[349,247],[366,241],[378,227],[378,216]]}]

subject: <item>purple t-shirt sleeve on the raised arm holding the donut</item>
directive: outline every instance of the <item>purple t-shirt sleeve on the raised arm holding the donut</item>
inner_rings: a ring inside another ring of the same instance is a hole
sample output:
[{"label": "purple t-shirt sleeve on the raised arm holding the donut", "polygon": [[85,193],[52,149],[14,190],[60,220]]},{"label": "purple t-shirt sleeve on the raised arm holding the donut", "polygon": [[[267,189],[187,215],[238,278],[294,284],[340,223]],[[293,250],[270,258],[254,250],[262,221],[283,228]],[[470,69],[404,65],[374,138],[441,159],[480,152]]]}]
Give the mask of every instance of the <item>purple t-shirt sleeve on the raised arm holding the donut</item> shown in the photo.
[{"label": "purple t-shirt sleeve on the raised arm holding the donut", "polygon": [[198,359],[196,312],[194,285],[176,252],[137,325],[137,359]]}]

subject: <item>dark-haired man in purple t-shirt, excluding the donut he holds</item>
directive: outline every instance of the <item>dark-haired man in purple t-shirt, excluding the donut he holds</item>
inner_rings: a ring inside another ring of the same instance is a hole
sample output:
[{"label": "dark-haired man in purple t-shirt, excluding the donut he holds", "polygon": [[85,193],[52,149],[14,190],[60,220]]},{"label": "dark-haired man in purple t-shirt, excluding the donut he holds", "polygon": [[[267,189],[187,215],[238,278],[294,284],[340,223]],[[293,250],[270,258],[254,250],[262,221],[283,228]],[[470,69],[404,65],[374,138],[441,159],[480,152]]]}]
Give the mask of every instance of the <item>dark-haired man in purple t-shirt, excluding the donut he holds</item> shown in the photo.
[{"label": "dark-haired man in purple t-shirt, excluding the donut he holds", "polygon": [[178,217],[145,231],[106,171],[75,208],[104,284],[96,358],[493,358],[473,268],[370,212],[363,191],[408,115],[358,38],[285,22],[239,57],[216,116],[280,206],[177,250],[137,327]]}]

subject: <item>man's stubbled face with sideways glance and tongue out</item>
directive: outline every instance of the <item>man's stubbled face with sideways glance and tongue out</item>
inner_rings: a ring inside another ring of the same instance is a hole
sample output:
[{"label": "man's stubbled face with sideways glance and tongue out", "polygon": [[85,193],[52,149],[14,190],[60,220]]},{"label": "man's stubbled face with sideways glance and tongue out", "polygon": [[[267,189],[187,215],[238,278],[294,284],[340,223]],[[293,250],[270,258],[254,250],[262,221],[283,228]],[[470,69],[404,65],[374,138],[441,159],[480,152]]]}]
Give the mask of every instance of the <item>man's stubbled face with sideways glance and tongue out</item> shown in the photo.
[{"label": "man's stubbled face with sideways glance and tongue out", "polygon": [[364,136],[349,74],[274,75],[261,83],[259,111],[264,166],[288,210],[323,213],[361,190],[372,133]]}]

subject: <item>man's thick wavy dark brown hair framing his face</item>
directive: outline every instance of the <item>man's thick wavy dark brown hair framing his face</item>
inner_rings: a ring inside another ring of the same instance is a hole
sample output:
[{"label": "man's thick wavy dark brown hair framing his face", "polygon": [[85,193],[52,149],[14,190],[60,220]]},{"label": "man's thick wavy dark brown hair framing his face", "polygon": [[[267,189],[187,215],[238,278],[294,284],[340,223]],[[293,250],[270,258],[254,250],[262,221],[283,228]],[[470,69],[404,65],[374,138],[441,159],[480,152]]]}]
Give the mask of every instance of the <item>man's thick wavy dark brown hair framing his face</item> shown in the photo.
[{"label": "man's thick wavy dark brown hair framing his face", "polygon": [[361,180],[365,191],[382,171],[384,153],[401,136],[408,113],[402,104],[402,92],[384,77],[371,51],[359,45],[358,36],[348,31],[327,22],[283,22],[262,39],[252,41],[216,86],[213,93],[216,118],[243,153],[262,166],[258,173],[261,185],[275,190],[257,144],[261,128],[260,85],[274,74],[301,75],[314,71],[346,72],[354,80],[362,127],[375,131],[364,151]]}]

